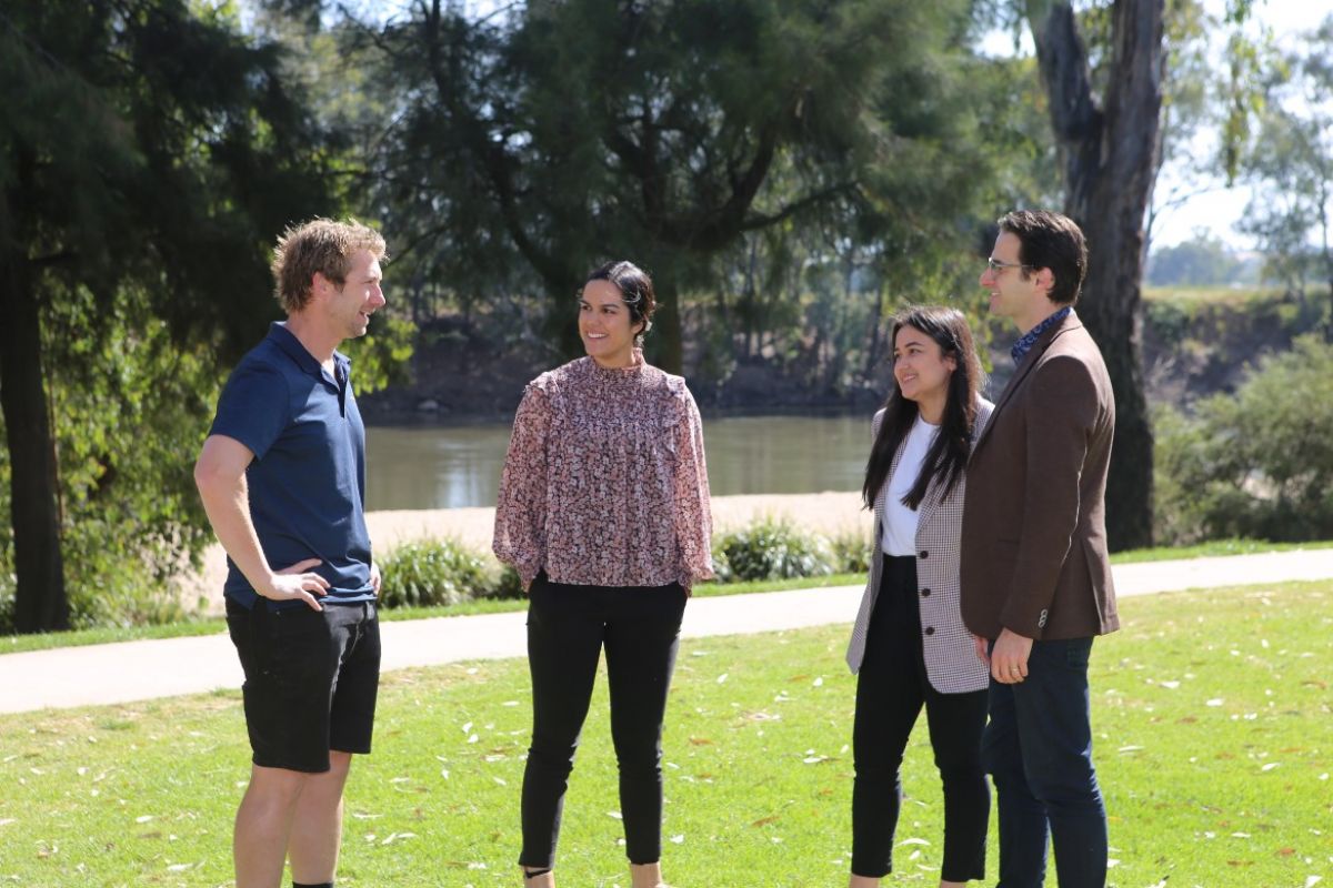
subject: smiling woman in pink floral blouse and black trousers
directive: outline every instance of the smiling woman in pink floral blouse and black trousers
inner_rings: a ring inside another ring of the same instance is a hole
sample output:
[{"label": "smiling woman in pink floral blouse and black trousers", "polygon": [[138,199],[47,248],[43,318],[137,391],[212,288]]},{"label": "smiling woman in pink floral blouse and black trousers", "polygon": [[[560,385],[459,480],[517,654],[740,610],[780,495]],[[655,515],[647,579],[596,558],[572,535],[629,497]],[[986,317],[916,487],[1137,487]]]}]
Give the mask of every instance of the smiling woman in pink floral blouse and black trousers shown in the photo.
[{"label": "smiling woman in pink floral blouse and black trousers", "polygon": [[713,575],[702,425],[680,377],[644,362],[653,285],[631,262],[579,296],[588,357],[528,383],[500,482],[495,553],[528,590],[529,888],[555,885],[579,734],[607,648],[632,888],[661,885],[661,732],[690,586]]}]

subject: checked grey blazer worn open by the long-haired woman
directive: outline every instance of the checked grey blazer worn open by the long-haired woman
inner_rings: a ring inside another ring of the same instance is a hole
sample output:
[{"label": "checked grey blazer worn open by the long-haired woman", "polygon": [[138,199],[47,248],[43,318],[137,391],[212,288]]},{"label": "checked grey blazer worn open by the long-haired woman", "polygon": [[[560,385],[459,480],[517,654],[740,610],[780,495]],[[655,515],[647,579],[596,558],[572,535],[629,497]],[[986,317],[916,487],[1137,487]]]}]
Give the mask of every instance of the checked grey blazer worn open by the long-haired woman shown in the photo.
[{"label": "checked grey blazer worn open by the long-haired woman", "polygon": [[[994,409],[985,398],[977,407],[977,422],[972,430],[976,443]],[[874,414],[870,423],[870,439],[880,433],[884,410]],[[901,446],[893,455],[893,465],[885,479],[893,478],[902,455]],[[941,694],[964,694],[980,691],[989,684],[986,666],[977,659],[972,634],[962,624],[958,612],[958,538],[962,533],[962,497],[966,490],[966,477],[960,478],[948,497],[942,495],[942,485],[936,481],[925,491],[917,521],[917,600],[921,604],[921,648],[925,654],[925,671],[930,686]],[[861,608],[852,627],[852,640],[846,646],[846,664],[852,672],[861,668],[865,659],[865,639],[870,627],[870,612],[880,594],[880,574],[882,558],[880,539],[884,534],[884,507],[880,497],[874,498],[874,538],[870,576],[861,595]]]}]

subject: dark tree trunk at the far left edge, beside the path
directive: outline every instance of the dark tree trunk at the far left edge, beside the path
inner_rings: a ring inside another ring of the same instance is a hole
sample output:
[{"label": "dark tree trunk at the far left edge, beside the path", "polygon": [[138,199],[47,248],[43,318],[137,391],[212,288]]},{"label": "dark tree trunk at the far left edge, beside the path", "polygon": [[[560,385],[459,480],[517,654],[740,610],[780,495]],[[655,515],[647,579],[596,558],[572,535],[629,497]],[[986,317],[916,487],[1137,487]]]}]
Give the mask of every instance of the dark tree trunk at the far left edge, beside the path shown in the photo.
[{"label": "dark tree trunk at the far left edge, beside the path", "polygon": [[55,449],[41,375],[41,320],[31,268],[12,253],[0,261],[0,410],[9,449],[9,517],[17,579],[15,628],[69,628]]}]

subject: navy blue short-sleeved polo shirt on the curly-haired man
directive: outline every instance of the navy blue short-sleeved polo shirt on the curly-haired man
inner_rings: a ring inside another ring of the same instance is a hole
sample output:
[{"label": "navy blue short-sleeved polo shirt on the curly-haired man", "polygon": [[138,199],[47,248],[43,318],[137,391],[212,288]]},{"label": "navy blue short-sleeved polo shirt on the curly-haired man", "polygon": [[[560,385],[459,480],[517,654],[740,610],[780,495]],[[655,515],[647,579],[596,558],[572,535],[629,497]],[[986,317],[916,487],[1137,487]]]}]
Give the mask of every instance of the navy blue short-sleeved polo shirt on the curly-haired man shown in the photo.
[{"label": "navy blue short-sleeved polo shirt on the curly-haired man", "polygon": [[[319,558],[327,602],[375,600],[365,529],[365,426],[347,355],[332,375],[280,322],[232,371],[211,435],[255,453],[245,470],[251,519],[269,567]],[[253,607],[249,580],[227,559],[228,598]],[[301,600],[271,607],[308,607]]]}]

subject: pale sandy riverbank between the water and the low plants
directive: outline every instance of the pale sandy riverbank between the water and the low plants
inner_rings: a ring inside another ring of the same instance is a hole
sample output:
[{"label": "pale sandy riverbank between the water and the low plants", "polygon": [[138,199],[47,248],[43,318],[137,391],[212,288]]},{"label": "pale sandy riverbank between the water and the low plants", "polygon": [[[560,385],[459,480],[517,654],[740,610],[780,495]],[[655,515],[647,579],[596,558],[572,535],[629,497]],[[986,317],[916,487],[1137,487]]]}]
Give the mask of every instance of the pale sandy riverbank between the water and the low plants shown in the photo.
[{"label": "pale sandy riverbank between the water and the low plants", "polygon": [[[493,507],[476,509],[396,509],[367,513],[365,523],[379,556],[395,546],[415,539],[457,539],[479,551],[491,551],[495,527]],[[848,530],[869,530],[869,513],[861,509],[861,494],[829,491],[821,494],[761,494],[713,498],[713,530],[744,527],[764,518],[786,518],[802,530],[837,535]],[[180,578],[181,600],[208,603],[209,614],[221,612],[227,555],[212,545],[204,553],[203,568]]]}]

